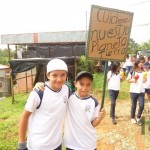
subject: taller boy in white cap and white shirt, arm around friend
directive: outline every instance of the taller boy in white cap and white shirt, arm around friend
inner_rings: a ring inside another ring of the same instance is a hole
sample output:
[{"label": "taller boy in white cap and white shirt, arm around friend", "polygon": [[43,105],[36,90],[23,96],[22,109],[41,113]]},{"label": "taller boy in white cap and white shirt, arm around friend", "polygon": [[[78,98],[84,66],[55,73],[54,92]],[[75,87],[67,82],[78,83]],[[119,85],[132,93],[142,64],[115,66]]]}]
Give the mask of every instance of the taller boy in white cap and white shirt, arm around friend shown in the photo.
[{"label": "taller boy in white cap and white shirt, arm around friend", "polygon": [[64,84],[67,72],[68,68],[63,60],[53,59],[47,64],[47,78],[49,81],[45,83],[40,108],[38,108],[41,102],[40,97],[33,90],[21,116],[18,150],[62,149],[63,122],[68,97],[70,96],[69,87]]}]

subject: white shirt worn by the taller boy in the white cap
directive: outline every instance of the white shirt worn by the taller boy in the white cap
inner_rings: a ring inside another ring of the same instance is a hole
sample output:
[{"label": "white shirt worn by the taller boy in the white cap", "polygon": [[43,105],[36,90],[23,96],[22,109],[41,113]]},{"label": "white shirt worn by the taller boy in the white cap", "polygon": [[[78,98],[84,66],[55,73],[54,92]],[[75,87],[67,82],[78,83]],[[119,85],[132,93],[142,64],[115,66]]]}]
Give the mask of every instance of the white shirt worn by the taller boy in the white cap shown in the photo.
[{"label": "white shirt worn by the taller boy in the white cap", "polygon": [[28,122],[29,150],[53,150],[62,143],[62,129],[66,114],[69,88],[63,85],[55,92],[45,86],[42,103],[35,91],[32,91],[25,109],[32,112]]}]

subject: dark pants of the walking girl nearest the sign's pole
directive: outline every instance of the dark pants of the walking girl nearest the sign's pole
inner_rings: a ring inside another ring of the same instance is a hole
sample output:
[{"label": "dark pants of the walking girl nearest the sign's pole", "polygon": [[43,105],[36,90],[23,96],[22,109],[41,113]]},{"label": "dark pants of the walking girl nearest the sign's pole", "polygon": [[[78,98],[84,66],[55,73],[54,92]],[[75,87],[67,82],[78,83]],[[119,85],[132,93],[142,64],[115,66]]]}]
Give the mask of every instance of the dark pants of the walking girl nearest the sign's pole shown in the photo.
[{"label": "dark pants of the walking girl nearest the sign's pole", "polygon": [[110,100],[111,100],[110,117],[115,118],[116,100],[117,100],[119,91],[108,90],[108,92],[109,92],[109,97],[110,97]]}]

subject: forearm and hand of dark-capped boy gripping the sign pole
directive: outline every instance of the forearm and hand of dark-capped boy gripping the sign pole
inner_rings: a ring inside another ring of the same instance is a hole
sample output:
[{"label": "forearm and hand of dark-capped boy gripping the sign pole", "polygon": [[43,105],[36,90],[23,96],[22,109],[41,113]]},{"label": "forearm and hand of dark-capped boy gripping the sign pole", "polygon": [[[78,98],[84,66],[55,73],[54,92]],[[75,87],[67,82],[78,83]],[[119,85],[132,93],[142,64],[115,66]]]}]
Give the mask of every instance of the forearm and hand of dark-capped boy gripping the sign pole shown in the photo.
[{"label": "forearm and hand of dark-capped boy gripping the sign pole", "polygon": [[102,108],[102,110],[99,112],[99,116],[92,121],[93,127],[98,126],[101,120],[105,117],[105,115],[106,111],[104,108]]}]

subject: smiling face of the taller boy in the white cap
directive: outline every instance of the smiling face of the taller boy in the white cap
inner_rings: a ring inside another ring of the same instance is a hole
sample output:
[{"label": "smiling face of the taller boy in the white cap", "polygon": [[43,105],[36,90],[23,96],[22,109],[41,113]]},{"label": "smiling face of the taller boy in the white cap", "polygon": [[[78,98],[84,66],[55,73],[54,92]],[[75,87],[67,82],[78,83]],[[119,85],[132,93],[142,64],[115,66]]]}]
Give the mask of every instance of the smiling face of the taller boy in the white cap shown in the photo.
[{"label": "smiling face of the taller boy in the white cap", "polygon": [[66,82],[67,73],[64,70],[56,70],[47,74],[49,79],[50,88],[54,91],[59,90]]}]

